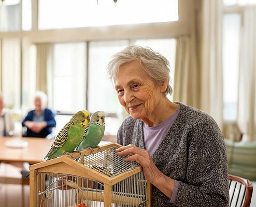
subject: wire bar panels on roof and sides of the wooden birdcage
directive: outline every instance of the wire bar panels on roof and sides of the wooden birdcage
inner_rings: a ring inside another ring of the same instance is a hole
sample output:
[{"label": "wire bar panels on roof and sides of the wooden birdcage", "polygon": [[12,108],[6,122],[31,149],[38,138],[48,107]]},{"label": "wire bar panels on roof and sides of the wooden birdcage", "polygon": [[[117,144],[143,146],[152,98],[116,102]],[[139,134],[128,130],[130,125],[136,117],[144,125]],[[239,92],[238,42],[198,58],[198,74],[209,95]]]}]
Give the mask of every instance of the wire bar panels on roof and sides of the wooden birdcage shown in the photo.
[{"label": "wire bar panels on roof and sides of the wooden birdcage", "polygon": [[[109,179],[122,176],[123,172],[139,166],[137,162],[126,162],[116,153],[117,146],[101,152],[84,154],[73,158],[74,163],[82,164]],[[39,172],[37,174],[37,206],[104,206],[104,182],[77,176],[71,173]],[[148,184],[143,171],[121,179],[111,185],[111,207],[148,206]],[[106,205],[105,205],[106,206]]]}]

